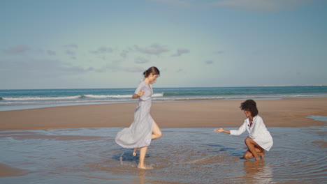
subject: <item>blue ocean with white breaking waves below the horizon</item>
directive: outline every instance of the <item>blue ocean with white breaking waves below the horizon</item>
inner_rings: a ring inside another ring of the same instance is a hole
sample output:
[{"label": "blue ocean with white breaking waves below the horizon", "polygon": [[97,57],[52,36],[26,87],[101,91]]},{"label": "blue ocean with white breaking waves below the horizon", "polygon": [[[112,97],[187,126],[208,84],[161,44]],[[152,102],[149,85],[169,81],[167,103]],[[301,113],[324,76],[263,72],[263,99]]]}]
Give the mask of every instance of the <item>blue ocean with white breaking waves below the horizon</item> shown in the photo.
[{"label": "blue ocean with white breaking waves below the horizon", "polygon": [[[137,102],[130,89],[20,89],[0,90],[0,111],[68,105]],[[327,86],[254,86],[155,88],[154,102],[186,100],[242,100],[327,97]]]}]

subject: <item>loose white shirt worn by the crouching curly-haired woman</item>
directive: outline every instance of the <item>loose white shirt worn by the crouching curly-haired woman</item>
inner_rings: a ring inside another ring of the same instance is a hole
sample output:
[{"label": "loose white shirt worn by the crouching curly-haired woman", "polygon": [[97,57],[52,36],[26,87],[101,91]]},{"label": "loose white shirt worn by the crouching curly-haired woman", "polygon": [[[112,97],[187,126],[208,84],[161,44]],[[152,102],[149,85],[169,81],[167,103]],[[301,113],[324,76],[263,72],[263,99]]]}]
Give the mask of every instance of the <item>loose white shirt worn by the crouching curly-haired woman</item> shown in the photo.
[{"label": "loose white shirt worn by the crouching curly-haired woman", "polygon": [[254,116],[252,126],[249,124],[249,118],[246,118],[238,130],[231,130],[231,135],[241,135],[245,130],[249,132],[249,137],[266,151],[269,151],[273,146],[273,137],[271,137],[260,116]]}]

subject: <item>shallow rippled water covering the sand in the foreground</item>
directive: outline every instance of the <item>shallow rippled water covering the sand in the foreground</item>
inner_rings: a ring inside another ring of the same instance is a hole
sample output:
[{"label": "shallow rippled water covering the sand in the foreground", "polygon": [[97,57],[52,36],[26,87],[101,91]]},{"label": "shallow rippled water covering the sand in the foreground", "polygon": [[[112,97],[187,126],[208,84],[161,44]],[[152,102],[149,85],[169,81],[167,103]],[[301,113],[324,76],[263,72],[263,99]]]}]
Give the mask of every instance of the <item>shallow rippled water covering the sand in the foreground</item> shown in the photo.
[{"label": "shallow rippled water covering the sand in the foreground", "polygon": [[[0,163],[27,169],[0,183],[324,183],[326,128],[269,128],[273,148],[265,162],[242,160],[247,134],[208,128],[162,129],[146,163],[114,142],[122,128],[0,132]],[[230,128],[226,128],[229,130]]]}]

